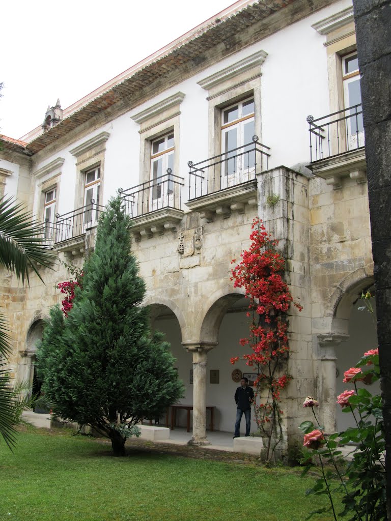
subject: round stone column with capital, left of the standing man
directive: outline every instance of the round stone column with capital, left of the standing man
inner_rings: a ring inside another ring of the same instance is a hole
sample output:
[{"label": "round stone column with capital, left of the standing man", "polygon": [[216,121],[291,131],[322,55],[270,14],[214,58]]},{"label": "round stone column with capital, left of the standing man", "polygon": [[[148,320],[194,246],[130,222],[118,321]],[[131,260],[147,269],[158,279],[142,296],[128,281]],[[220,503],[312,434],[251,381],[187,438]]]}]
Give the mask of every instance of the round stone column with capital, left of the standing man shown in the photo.
[{"label": "round stone column with capital, left of the standing man", "polygon": [[189,444],[208,445],[206,439],[206,358],[216,344],[187,344],[193,355],[193,435]]}]

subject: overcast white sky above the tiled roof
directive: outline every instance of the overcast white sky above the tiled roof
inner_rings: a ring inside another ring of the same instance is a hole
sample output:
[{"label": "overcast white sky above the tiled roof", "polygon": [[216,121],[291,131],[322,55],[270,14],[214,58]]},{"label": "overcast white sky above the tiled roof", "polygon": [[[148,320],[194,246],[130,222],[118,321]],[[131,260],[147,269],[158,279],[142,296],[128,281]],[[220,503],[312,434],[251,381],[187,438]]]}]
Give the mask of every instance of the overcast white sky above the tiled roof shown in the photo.
[{"label": "overcast white sky above the tiled roof", "polygon": [[233,0],[13,0],[2,5],[0,133],[20,138]]}]

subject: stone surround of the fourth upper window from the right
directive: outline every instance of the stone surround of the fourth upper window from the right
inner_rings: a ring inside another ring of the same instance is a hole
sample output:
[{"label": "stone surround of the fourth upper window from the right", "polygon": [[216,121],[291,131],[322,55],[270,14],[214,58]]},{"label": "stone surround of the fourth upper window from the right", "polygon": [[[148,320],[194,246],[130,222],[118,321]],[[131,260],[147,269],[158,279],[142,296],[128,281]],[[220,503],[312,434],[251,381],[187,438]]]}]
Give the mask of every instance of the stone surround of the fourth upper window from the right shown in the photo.
[{"label": "stone surround of the fourth upper window from the right", "polygon": [[110,133],[103,131],[69,151],[76,157],[75,209],[81,208],[84,204],[85,172],[97,166],[101,167],[100,200],[103,201],[106,141],[109,137]]}]

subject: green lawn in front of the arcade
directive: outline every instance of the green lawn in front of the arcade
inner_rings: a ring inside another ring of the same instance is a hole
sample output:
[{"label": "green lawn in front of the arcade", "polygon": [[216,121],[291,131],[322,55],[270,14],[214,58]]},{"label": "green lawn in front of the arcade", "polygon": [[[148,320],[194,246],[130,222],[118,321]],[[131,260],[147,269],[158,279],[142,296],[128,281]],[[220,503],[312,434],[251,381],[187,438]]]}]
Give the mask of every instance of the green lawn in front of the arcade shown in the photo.
[{"label": "green lawn in front of the arcade", "polygon": [[288,468],[140,450],[116,458],[100,441],[44,429],[20,433],[14,454],[0,443],[1,521],[302,521],[326,504],[305,496],[312,483]]}]

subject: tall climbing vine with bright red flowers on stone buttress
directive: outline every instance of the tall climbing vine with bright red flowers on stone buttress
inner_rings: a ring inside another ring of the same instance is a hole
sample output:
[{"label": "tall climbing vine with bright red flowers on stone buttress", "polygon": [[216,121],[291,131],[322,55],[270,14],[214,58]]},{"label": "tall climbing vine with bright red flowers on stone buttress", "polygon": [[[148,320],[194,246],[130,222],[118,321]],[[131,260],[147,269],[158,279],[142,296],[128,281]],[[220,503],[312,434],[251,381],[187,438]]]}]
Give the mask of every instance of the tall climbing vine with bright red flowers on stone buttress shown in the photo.
[{"label": "tall climbing vine with bright red flowers on stone buttress", "polygon": [[[285,259],[276,251],[273,240],[258,217],[252,224],[249,250],[241,253],[241,261],[231,270],[235,288],[244,288],[249,299],[249,336],[240,344],[249,346],[243,355],[246,365],[258,372],[254,382],[254,414],[258,429],[266,437],[266,459],[273,457],[283,439],[280,392],[292,379],[288,373],[289,343],[287,311],[290,304],[301,311],[284,282]],[[236,264],[236,259],[231,261]],[[239,357],[231,358],[235,364]],[[257,399],[258,397],[258,399]]]}]

